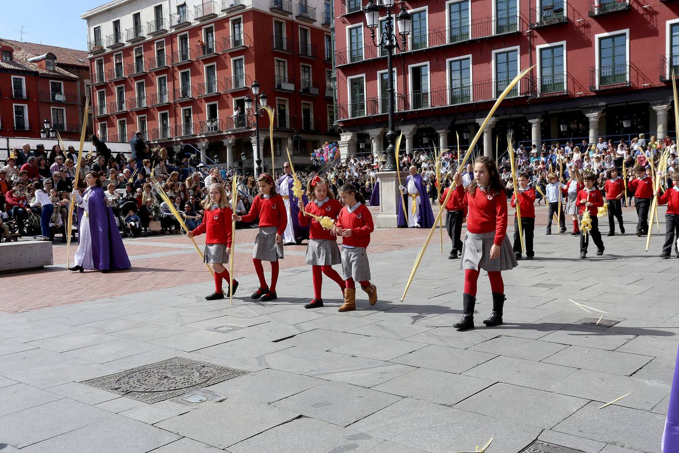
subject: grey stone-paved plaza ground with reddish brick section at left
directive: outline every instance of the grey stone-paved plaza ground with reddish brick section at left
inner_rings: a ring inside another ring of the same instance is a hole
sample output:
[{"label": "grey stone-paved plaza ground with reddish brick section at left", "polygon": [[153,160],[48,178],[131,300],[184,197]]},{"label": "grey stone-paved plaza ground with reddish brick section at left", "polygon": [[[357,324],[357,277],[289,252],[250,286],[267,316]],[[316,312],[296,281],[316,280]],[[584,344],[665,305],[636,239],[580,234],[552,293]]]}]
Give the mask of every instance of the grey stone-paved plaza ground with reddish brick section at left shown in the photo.
[{"label": "grey stone-paved plaza ground with reddish brick section at left", "polygon": [[[438,232],[405,302],[426,231],[375,232],[379,302],[368,306],[359,290],[359,309],[345,313],[327,278],[325,307],[304,309],[304,245],[285,249],[278,300],[250,300],[254,231],[236,235],[233,306],[203,299],[212,280],[179,236],[126,241],[133,269],[111,274],[71,274],[65,247],[55,247],[53,268],[0,276],[9,300],[0,302],[0,451],[474,452],[494,436],[488,453],[536,440],[660,452],[679,346],[679,259],[657,257],[660,236],[644,251],[629,209],[626,235],[606,237],[604,219],[606,254],[578,259],[579,238],[570,228],[545,236],[545,208],[536,211],[536,259],[504,273],[505,324],[481,324],[492,307],[483,272],[477,329],[466,332],[452,327],[460,261],[447,259],[445,234],[441,255]],[[599,325],[602,312],[569,299],[604,311]],[[172,363],[185,359],[198,364],[183,382],[198,384],[154,394],[168,386],[158,370],[181,374]],[[161,377],[158,388],[140,390],[149,374]]]}]

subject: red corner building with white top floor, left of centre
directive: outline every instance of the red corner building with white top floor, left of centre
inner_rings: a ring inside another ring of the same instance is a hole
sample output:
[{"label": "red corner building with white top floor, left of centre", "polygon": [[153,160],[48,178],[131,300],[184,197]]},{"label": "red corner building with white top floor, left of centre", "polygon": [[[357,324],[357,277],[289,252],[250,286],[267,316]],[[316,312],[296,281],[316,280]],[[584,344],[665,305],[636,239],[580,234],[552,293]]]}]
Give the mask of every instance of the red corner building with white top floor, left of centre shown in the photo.
[{"label": "red corner building with white top floor, left of centre", "polygon": [[[107,141],[128,141],[139,130],[157,145],[191,143],[228,164],[244,153],[252,168],[254,120],[244,104],[256,80],[276,110],[275,155],[299,146],[299,163],[308,164],[312,149],[338,138],[326,4],[117,0],[84,13],[94,130]],[[268,169],[267,115],[259,129]]]}]

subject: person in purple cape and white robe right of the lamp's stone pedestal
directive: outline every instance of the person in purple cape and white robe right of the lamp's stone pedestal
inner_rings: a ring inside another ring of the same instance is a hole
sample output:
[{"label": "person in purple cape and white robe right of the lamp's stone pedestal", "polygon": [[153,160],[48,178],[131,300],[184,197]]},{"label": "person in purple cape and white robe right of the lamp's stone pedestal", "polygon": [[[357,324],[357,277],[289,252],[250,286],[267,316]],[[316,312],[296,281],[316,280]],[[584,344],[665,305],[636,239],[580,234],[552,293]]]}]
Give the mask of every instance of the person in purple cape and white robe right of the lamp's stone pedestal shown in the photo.
[{"label": "person in purple cape and white robe right of the lamp's stone pedestal", "polygon": [[399,214],[398,226],[401,228],[431,228],[434,224],[434,213],[431,211],[424,179],[418,175],[416,166],[410,167],[410,175],[405,179],[405,184],[399,186],[399,189],[401,189],[401,196],[404,198],[407,213],[403,213],[404,203],[399,200],[397,208]]}]

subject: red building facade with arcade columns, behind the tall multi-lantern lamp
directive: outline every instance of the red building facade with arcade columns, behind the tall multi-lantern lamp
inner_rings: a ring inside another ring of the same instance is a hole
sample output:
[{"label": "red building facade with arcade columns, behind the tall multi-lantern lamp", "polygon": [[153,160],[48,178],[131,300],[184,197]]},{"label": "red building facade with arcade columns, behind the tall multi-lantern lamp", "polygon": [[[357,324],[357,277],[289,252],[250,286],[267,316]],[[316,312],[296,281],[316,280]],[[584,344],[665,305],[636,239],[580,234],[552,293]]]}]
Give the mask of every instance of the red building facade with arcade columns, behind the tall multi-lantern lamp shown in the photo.
[{"label": "red building facade with arcade columns, behind the tall multi-lantern lamp", "polygon": [[[371,142],[373,151],[386,147],[386,52],[373,45],[365,3],[335,1],[339,145],[348,153],[361,142]],[[469,143],[498,93],[532,65],[484,131],[488,155],[509,129],[517,141],[538,147],[541,141],[675,135],[669,82],[670,67],[679,73],[676,2],[403,4],[412,20],[406,50],[394,56],[395,123],[409,150],[455,145],[456,132],[460,145]]]}]

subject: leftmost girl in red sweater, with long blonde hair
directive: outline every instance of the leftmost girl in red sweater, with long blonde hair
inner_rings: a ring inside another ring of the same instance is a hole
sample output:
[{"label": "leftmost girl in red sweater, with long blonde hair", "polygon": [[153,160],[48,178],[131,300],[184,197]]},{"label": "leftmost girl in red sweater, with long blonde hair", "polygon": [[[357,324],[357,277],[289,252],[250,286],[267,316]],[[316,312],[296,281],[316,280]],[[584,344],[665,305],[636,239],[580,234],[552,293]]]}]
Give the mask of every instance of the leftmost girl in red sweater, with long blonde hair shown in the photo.
[{"label": "leftmost girl in red sweater, with long blonde hair", "polygon": [[[231,253],[231,215],[229,200],[226,198],[224,186],[221,184],[210,185],[207,198],[202,203],[205,209],[203,221],[193,231],[187,232],[192,238],[206,233],[204,261],[212,264],[215,270],[215,292],[206,295],[206,300],[223,299],[222,279],[230,282],[231,276],[224,266],[229,262]],[[234,293],[238,288],[238,282],[234,280]],[[228,287],[228,285],[227,285]],[[226,297],[230,297],[228,294]]]}]

